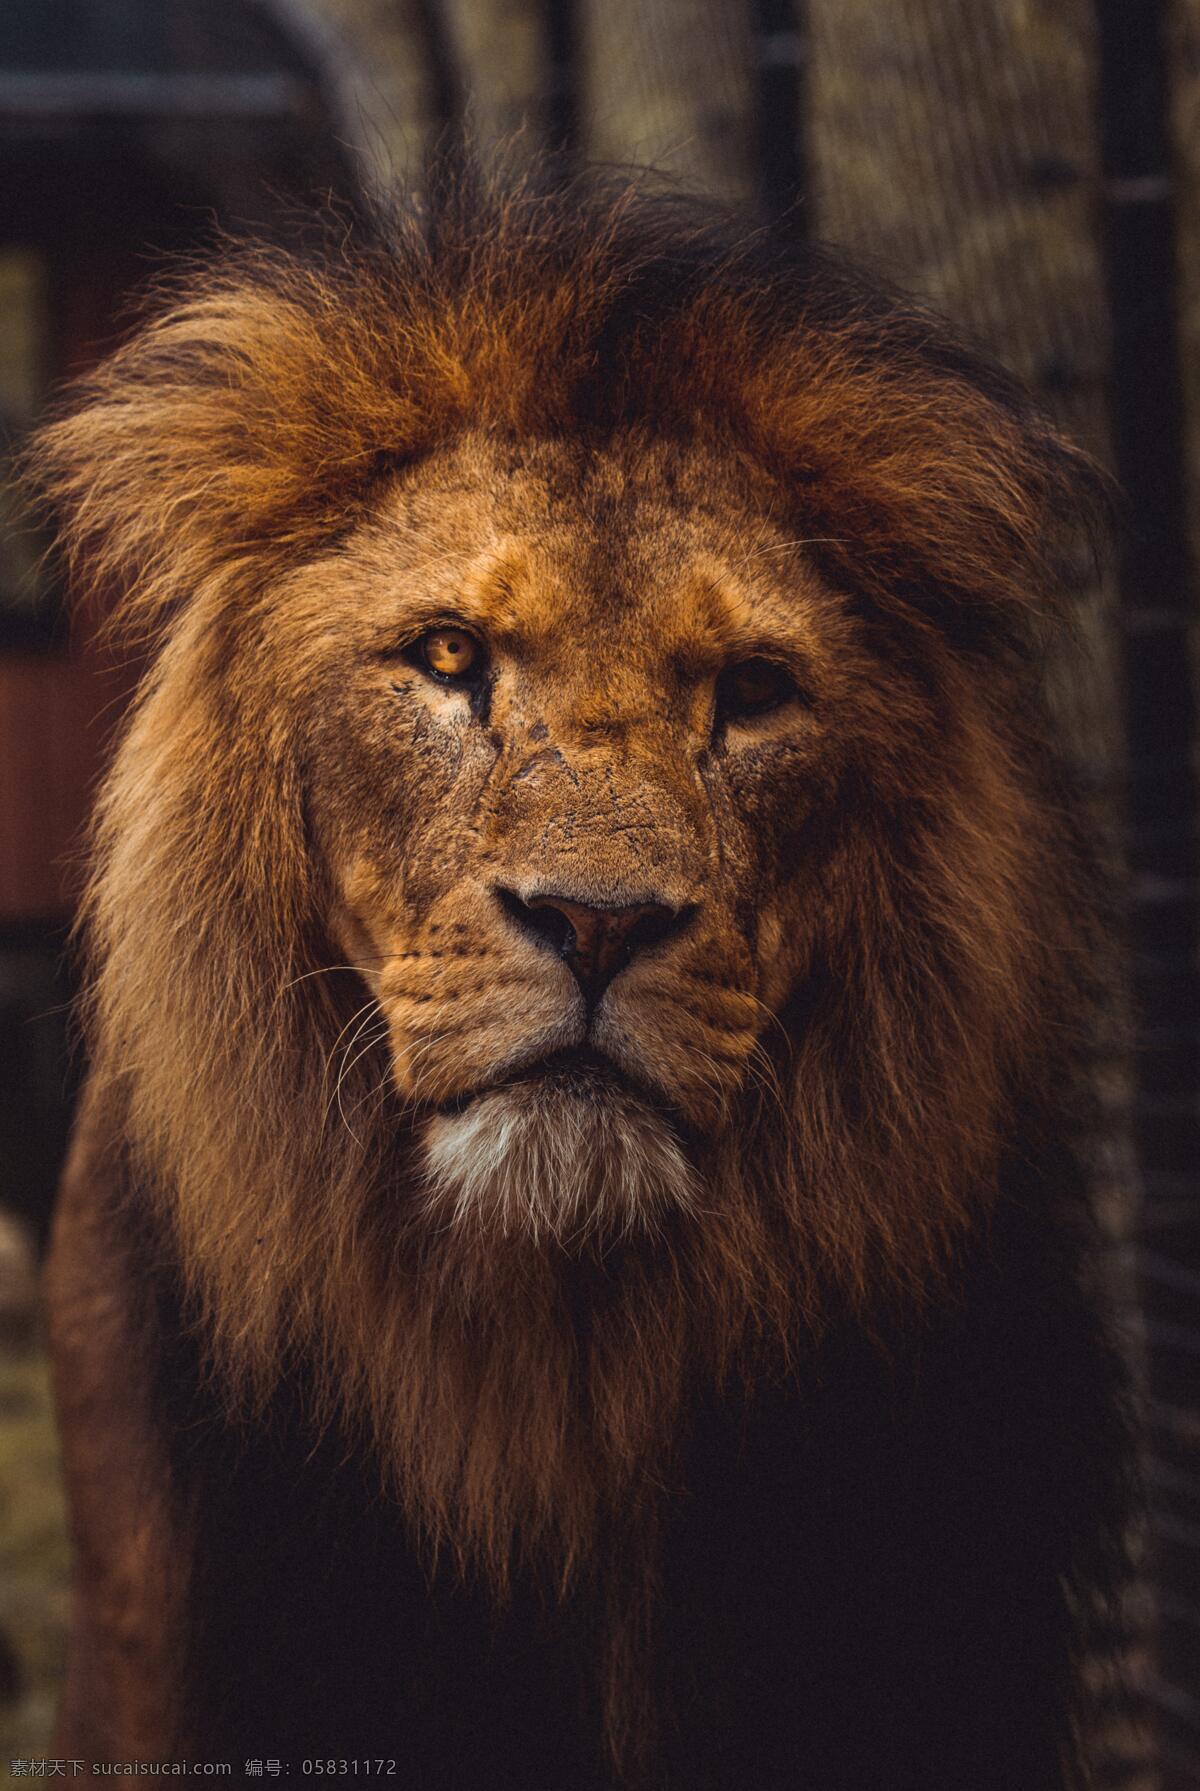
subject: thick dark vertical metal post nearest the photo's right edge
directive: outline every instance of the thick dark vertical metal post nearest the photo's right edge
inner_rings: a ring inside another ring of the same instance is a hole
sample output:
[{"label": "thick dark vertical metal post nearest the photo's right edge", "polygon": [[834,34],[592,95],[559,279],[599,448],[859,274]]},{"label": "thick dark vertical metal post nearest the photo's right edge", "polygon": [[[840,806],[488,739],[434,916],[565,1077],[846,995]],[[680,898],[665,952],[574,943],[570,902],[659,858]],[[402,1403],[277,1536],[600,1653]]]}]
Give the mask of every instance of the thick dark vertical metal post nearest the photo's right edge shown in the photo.
[{"label": "thick dark vertical metal post nearest the photo's right edge", "polygon": [[[1195,604],[1184,489],[1175,319],[1175,219],[1166,127],[1166,5],[1096,0],[1107,287],[1112,312],[1112,441],[1128,500],[1121,553],[1127,838],[1137,1051],[1134,1137],[1144,1186],[1186,1187],[1191,1221],[1173,1227],[1182,1275],[1146,1277],[1152,1395],[1200,1426],[1200,947],[1196,849]],[[1152,1524],[1153,1571],[1170,1589],[1153,1691],[1162,1787],[1184,1791],[1200,1743],[1179,1707],[1200,1684],[1200,1549],[1170,1508]],[[1191,1757],[1187,1771],[1170,1764]]]}]

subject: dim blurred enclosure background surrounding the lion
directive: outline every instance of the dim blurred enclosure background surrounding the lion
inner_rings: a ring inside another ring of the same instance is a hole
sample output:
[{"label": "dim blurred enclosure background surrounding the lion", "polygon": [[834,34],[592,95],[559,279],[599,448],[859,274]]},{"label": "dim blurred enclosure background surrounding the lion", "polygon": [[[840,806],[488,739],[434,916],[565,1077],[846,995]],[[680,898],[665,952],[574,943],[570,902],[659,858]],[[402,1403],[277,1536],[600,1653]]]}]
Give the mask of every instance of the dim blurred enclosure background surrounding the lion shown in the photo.
[{"label": "dim blurred enclosure background surrounding the lion", "polygon": [[136,677],[68,621],[7,457],[174,253],[419,183],[448,127],[484,156],[650,163],[851,247],[1023,374],[1125,487],[1119,555],[1080,577],[1048,668],[1123,867],[1128,1005],[1096,1062],[1094,1175],[1152,1438],[1116,1637],[1141,1721],[1112,1716],[1101,1784],[1195,1791],[1200,0],[4,0],[0,1762],[47,1752],[63,1657],[36,1263],[81,1067],[79,835]]}]

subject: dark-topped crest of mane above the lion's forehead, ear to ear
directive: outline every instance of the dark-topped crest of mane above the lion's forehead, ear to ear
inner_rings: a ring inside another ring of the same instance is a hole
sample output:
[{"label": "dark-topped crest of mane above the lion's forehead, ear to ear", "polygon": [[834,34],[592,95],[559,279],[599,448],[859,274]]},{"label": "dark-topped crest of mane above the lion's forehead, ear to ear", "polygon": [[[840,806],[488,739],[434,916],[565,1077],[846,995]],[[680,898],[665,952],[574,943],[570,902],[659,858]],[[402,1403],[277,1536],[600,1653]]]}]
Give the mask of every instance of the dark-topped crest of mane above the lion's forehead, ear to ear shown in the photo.
[{"label": "dark-topped crest of mane above the lion's forehead, ear to ear", "polygon": [[804,494],[856,587],[992,621],[1060,587],[1103,507],[1096,466],[931,313],[650,188],[446,183],[159,299],[32,460],[134,629],[244,555],[326,544],[381,471],[466,428],[713,433]]}]

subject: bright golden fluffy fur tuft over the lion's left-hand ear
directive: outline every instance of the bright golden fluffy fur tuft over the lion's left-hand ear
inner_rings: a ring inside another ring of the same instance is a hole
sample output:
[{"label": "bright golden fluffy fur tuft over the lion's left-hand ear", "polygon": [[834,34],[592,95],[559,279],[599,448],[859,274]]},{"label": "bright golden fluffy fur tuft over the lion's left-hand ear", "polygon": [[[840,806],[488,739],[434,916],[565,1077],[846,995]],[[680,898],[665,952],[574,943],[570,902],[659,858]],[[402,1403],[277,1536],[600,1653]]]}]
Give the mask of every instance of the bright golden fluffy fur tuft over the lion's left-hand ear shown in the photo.
[{"label": "bright golden fluffy fur tuft over the lion's left-hand ear", "polygon": [[419,405],[335,287],[269,253],[184,279],[34,437],[25,487],[120,627],[154,634],[222,564],[337,528],[381,448],[412,450]]}]

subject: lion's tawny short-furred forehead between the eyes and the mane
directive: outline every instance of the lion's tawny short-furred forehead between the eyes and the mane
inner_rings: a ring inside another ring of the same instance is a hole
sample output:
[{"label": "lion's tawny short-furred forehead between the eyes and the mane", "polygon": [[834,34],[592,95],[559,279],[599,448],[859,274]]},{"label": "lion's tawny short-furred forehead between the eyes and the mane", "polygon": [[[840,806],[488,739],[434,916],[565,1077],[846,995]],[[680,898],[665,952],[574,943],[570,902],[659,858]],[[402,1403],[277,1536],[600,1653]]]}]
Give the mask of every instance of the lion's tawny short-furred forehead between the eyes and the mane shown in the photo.
[{"label": "lion's tawny short-furred forehead between the eyes and the mane", "polygon": [[476,621],[559,677],[661,677],[776,636],[820,652],[827,593],[765,476],[699,444],[466,441],[408,469],[371,523],[364,614],[414,600]]}]

